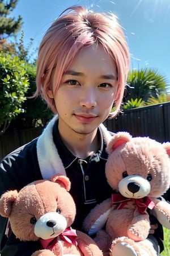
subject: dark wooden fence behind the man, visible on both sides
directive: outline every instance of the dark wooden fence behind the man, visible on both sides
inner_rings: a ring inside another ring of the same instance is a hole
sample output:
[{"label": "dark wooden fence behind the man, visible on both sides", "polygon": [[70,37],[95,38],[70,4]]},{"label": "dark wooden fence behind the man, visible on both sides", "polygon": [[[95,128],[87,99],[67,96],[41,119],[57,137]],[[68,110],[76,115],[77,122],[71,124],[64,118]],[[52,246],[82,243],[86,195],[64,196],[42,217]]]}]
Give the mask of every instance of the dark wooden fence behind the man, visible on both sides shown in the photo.
[{"label": "dark wooden fence behind the man, visible on both sides", "polygon": [[[129,131],[133,136],[149,136],[159,142],[170,141],[170,102],[129,110],[107,120],[111,131]],[[0,159],[41,134],[42,128],[6,131],[0,137]]]}]

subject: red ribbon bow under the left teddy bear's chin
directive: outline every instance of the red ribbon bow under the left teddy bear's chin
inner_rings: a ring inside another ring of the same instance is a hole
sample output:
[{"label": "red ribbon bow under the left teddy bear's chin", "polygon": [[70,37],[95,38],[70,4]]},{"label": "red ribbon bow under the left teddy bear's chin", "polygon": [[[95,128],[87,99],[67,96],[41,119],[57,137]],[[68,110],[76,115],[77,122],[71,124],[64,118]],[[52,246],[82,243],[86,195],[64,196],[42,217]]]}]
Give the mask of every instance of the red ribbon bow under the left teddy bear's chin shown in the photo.
[{"label": "red ribbon bow under the left teddy bear's chin", "polygon": [[77,242],[75,238],[77,237],[76,230],[72,228],[67,228],[65,231],[63,231],[59,236],[54,237],[54,238],[49,238],[49,239],[42,239],[40,238],[40,243],[44,249],[49,249],[52,250],[54,245],[56,244],[58,237],[68,243],[71,243],[73,245],[77,245]]}]

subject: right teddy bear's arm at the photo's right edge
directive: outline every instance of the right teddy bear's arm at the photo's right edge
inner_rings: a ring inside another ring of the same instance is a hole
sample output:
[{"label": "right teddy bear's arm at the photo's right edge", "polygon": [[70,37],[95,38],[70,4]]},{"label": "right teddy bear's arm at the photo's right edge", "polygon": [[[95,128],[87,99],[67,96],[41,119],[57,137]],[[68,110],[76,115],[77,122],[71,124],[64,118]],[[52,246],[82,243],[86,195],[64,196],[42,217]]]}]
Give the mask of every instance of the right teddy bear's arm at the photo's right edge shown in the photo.
[{"label": "right teddy bear's arm at the photo's right edge", "polygon": [[170,229],[170,204],[164,199],[159,200],[152,198],[152,201],[154,201],[155,204],[152,214],[158,219],[160,224]]}]

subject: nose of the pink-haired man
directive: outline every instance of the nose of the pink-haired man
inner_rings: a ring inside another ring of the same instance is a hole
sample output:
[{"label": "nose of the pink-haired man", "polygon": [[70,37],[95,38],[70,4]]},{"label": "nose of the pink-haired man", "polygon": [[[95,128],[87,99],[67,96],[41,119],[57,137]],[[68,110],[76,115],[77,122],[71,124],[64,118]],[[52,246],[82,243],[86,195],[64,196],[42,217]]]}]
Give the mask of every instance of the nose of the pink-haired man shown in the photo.
[{"label": "nose of the pink-haired man", "polygon": [[82,108],[92,109],[96,106],[96,92],[93,88],[86,88],[83,90],[82,97],[80,99],[80,106]]}]

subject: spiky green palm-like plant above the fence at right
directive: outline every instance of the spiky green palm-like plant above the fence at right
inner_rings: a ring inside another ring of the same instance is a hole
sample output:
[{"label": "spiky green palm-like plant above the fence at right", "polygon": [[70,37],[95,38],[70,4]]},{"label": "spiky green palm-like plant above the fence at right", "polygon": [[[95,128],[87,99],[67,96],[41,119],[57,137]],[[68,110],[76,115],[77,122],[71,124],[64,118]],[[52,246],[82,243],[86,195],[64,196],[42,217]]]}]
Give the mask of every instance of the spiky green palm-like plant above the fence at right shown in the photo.
[{"label": "spiky green palm-like plant above the fence at right", "polygon": [[127,95],[124,102],[131,99],[147,102],[149,98],[158,98],[159,94],[165,93],[167,79],[151,68],[133,69],[128,73]]}]

